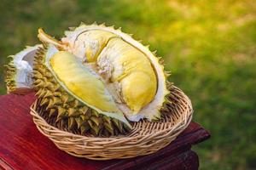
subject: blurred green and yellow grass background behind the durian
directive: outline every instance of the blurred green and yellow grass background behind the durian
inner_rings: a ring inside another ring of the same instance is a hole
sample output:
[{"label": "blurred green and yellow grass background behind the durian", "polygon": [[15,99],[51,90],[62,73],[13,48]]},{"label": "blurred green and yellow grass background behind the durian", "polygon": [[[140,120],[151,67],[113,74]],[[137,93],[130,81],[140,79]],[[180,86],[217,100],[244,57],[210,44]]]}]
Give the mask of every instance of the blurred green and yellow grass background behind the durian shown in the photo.
[{"label": "blurred green and yellow grass background behind the durian", "polygon": [[1,0],[0,14],[1,94],[7,56],[39,43],[38,27],[60,38],[80,21],[121,26],[164,57],[212,133],[194,147],[201,169],[256,169],[255,1]]}]

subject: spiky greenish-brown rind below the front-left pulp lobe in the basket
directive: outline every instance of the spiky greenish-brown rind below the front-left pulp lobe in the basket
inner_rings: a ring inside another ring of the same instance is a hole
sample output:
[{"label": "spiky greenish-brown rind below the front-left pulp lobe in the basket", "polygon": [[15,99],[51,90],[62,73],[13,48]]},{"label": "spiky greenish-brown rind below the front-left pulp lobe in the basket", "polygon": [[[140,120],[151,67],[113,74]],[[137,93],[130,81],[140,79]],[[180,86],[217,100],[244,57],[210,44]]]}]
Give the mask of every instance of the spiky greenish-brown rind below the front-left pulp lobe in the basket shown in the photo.
[{"label": "spiky greenish-brown rind below the front-left pulp lobe in the basket", "polygon": [[80,134],[96,136],[117,135],[130,130],[123,122],[99,114],[67,94],[44,65],[45,52],[44,44],[35,57],[33,87],[37,91],[40,107],[44,107],[44,113],[49,118],[55,119],[55,124],[69,131],[79,130]]}]

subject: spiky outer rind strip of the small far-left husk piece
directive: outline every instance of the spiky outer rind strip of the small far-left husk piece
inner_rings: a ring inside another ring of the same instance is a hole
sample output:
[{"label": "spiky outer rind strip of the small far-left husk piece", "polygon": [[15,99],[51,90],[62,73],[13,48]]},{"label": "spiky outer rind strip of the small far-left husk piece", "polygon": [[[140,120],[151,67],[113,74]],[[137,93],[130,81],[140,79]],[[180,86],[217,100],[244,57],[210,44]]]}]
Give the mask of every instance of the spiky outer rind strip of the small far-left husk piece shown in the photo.
[{"label": "spiky outer rind strip of the small far-left husk piece", "polygon": [[6,82],[8,93],[11,93],[16,90],[15,75],[16,75],[17,69],[14,65],[14,56],[10,55],[9,58],[11,58],[11,60],[9,61],[9,64],[4,65],[6,68],[4,82]]}]

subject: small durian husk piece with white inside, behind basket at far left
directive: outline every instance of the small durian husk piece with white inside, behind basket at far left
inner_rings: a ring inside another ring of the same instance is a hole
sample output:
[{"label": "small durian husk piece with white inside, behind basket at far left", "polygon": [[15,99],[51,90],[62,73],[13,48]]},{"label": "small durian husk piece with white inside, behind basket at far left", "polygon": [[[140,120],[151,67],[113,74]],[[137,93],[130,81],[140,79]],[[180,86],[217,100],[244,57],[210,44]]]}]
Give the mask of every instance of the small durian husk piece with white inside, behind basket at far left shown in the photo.
[{"label": "small durian husk piece with white inside, behind basket at far left", "polygon": [[6,66],[5,82],[8,93],[23,94],[32,88],[33,58],[42,45],[27,46],[18,54],[9,55]]}]

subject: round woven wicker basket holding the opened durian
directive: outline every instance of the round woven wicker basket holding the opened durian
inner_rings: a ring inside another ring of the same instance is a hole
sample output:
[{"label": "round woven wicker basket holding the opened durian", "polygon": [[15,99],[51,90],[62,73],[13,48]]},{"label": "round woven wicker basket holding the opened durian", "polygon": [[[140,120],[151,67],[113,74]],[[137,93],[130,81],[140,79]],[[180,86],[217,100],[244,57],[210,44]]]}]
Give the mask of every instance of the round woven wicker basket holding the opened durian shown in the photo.
[{"label": "round woven wicker basket holding the opened durian", "polygon": [[49,125],[38,115],[37,101],[31,107],[31,115],[38,130],[70,155],[91,160],[144,156],[170,144],[192,119],[190,99],[179,88],[172,86],[171,89],[172,105],[169,107],[169,114],[159,122],[134,122],[131,133],[125,136],[96,138],[63,131]]}]

